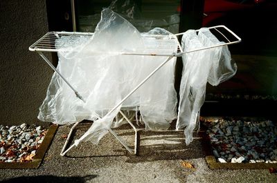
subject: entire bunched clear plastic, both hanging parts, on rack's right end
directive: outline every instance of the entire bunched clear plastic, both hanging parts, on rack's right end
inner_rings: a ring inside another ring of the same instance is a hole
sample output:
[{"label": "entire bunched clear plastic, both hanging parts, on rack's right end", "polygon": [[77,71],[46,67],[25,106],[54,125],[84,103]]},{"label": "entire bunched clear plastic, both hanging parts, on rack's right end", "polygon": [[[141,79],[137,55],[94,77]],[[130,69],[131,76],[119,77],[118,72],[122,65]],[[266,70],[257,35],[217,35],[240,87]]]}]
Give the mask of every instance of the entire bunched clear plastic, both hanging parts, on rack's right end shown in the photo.
[{"label": "entire bunched clear plastic, both hanging parts, on rack's right end", "polygon": [[[218,44],[220,41],[208,28],[201,28],[198,35],[195,30],[188,30],[181,40],[184,52]],[[227,46],[189,52],[183,55],[182,59],[184,68],[176,128],[185,128],[186,144],[190,144],[193,141],[193,131],[199,122],[200,108],[205,101],[207,81],[216,86],[235,75],[237,66],[231,61]]]}]

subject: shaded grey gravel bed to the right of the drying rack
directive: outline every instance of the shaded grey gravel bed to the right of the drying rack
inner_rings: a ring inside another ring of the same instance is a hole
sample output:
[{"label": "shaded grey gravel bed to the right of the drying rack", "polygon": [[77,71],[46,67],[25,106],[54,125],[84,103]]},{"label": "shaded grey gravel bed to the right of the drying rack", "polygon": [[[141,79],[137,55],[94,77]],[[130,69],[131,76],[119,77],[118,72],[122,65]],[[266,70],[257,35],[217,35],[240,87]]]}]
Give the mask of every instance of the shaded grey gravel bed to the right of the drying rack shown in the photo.
[{"label": "shaded grey gravel bed to the right of the drying rack", "polygon": [[277,163],[274,122],[216,119],[204,124],[208,126],[206,133],[218,162]]}]

